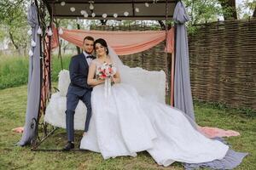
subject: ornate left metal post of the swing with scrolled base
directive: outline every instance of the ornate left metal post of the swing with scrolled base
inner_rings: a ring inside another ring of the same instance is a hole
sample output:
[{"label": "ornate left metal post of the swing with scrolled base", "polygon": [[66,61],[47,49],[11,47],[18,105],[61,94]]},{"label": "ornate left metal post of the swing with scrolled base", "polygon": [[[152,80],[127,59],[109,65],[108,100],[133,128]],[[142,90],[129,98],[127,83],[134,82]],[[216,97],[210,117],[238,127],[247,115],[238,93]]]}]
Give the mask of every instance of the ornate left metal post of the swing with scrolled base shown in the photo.
[{"label": "ornate left metal post of the swing with scrolled base", "polygon": [[[38,145],[44,142],[51,133],[57,129],[57,127],[49,126],[46,122],[40,122],[42,116],[45,114],[46,104],[51,95],[51,37],[47,36],[46,29],[48,26],[45,25],[44,19],[44,3],[38,3],[35,0],[35,4],[38,8],[38,24],[42,29],[42,35],[40,36],[40,100],[38,108],[38,117],[35,120],[35,135],[32,139],[32,150],[37,150]],[[47,7],[48,8],[48,7]],[[49,8],[48,8],[49,9]],[[53,12],[49,11],[49,29],[52,29]],[[42,15],[42,16],[41,16]],[[47,39],[46,39],[47,37]],[[41,120],[42,121],[42,120]],[[38,133],[39,127],[42,128],[43,134]]]}]

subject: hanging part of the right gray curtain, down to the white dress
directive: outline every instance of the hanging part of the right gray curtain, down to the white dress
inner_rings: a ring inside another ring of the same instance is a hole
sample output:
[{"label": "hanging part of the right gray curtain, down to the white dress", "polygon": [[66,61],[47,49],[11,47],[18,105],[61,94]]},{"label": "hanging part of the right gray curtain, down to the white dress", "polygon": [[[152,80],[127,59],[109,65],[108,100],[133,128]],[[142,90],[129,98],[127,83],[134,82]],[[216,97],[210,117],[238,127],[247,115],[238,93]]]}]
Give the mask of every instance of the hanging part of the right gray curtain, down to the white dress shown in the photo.
[{"label": "hanging part of the right gray curtain, down to the white dress", "polygon": [[182,2],[178,2],[173,14],[176,22],[176,58],[174,76],[174,106],[195,121],[189,77],[189,46],[185,23],[189,16]]}]

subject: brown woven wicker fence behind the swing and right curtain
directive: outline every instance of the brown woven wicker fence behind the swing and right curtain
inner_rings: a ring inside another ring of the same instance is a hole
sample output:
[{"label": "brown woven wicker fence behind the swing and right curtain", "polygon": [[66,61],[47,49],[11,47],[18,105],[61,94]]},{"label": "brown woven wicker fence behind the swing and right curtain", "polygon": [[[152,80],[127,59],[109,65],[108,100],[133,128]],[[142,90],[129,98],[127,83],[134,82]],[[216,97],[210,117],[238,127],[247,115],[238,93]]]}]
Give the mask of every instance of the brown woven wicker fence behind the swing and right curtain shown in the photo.
[{"label": "brown woven wicker fence behind the swing and right curtain", "polygon": [[[160,27],[154,26],[155,29]],[[92,30],[143,31],[148,26],[97,26]],[[166,71],[164,42],[143,53],[120,56],[125,65]],[[256,20],[214,22],[189,36],[194,99],[256,110]],[[169,72],[167,73],[170,77]]]}]

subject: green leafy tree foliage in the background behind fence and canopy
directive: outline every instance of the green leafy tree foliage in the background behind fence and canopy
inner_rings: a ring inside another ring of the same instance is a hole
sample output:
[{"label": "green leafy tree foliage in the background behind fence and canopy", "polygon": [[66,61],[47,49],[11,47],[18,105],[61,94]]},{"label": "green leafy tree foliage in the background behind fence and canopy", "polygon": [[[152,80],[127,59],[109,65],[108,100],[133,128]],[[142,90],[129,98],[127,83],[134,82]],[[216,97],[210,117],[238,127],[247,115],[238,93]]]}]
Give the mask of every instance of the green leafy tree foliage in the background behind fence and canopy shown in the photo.
[{"label": "green leafy tree foliage in the background behind fence and canopy", "polygon": [[[28,0],[0,0],[0,41],[9,39],[15,48],[26,48],[29,38],[26,31],[29,26],[26,22],[26,7]],[[189,32],[195,31],[195,25],[217,21],[218,19],[236,19],[241,11],[236,10],[236,0],[183,0],[189,14]],[[256,17],[256,0],[243,0],[243,6],[249,8],[249,12],[242,18]],[[254,11],[254,13],[253,13]],[[59,20],[59,25],[77,29],[76,20]],[[109,21],[110,22],[110,21]],[[109,23],[108,22],[108,23]],[[130,25],[135,21],[122,21],[122,25]],[[81,29],[87,29],[88,25],[101,24],[99,20],[81,21]],[[64,45],[64,44],[63,44]]]}]

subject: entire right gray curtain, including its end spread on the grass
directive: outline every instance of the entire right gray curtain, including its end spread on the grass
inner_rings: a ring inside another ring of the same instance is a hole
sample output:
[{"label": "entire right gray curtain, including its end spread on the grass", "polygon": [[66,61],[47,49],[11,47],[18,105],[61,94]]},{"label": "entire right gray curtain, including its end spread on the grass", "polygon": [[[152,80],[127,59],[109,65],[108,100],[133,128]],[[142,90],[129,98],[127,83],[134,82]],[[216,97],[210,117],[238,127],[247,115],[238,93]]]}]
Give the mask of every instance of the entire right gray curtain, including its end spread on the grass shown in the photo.
[{"label": "entire right gray curtain, including its end spread on the grass", "polygon": [[[175,20],[177,24],[174,106],[181,111],[184,111],[195,121],[189,77],[188,36],[185,27],[185,23],[189,21],[189,16],[181,1],[178,2],[175,7],[173,20]],[[218,140],[225,143],[224,139],[218,138]],[[230,148],[226,156],[221,160],[194,164],[185,163],[184,167],[186,170],[198,169],[200,167],[209,167],[212,169],[233,169],[241,164],[241,161],[245,156],[247,156],[247,153],[236,152]]]}]

